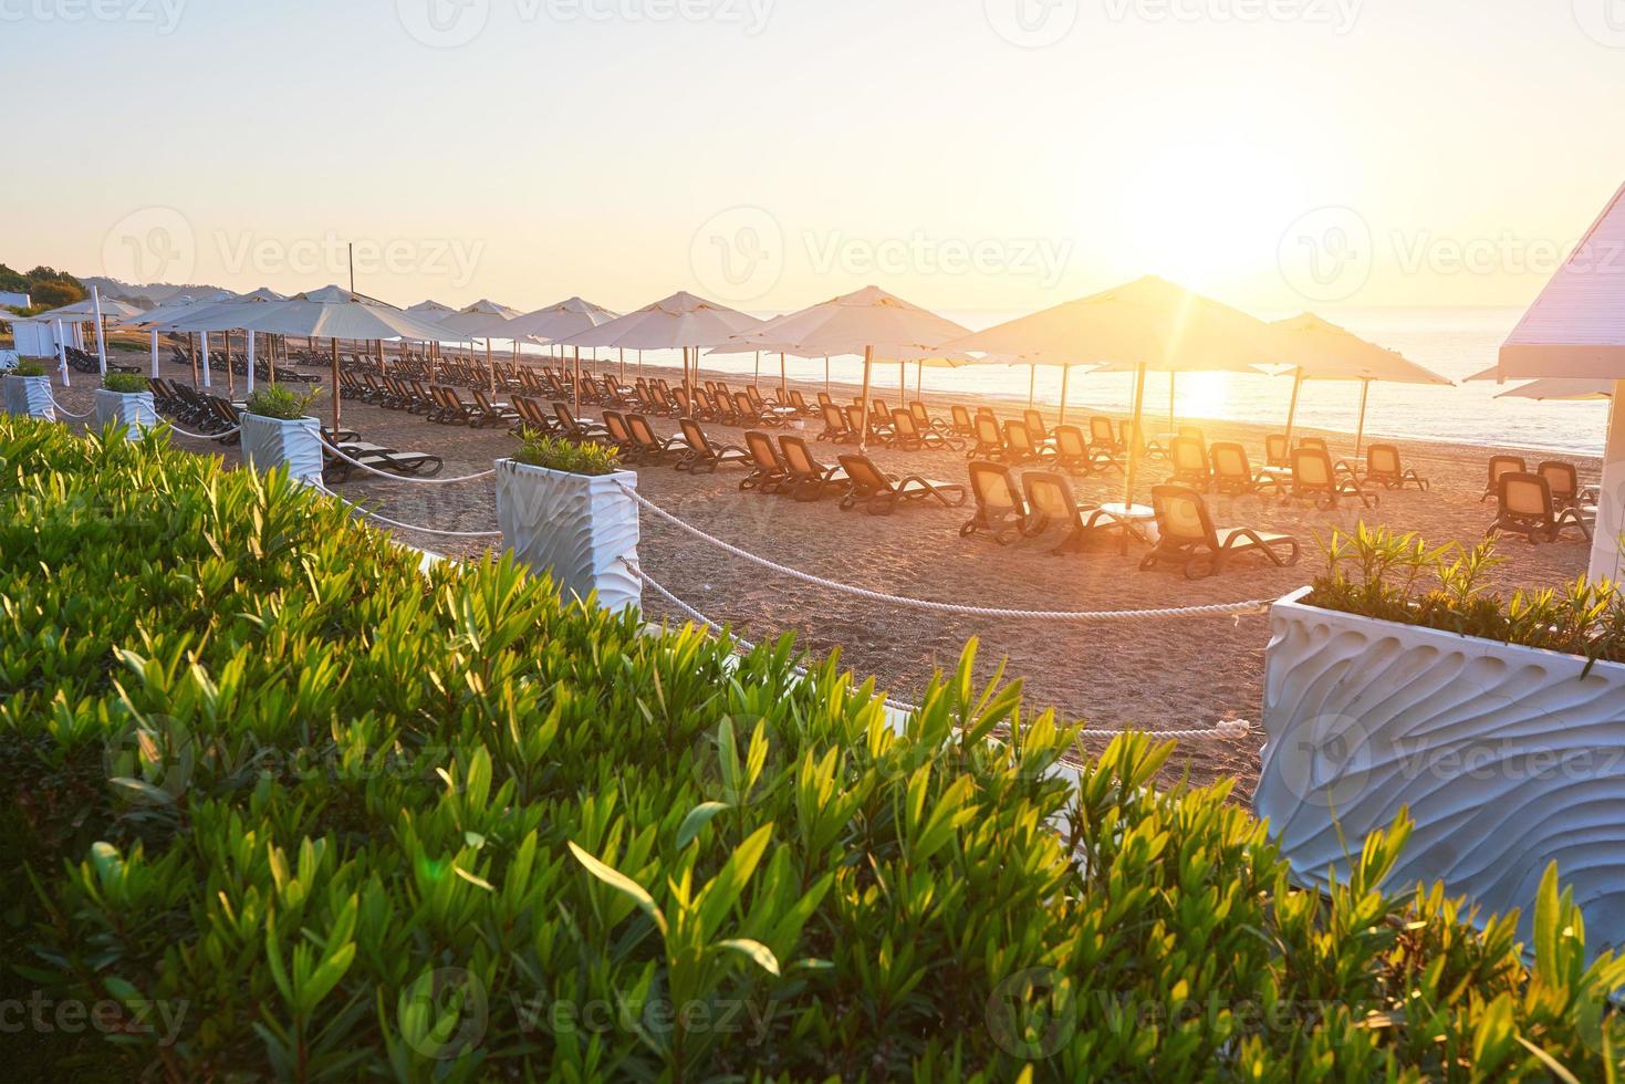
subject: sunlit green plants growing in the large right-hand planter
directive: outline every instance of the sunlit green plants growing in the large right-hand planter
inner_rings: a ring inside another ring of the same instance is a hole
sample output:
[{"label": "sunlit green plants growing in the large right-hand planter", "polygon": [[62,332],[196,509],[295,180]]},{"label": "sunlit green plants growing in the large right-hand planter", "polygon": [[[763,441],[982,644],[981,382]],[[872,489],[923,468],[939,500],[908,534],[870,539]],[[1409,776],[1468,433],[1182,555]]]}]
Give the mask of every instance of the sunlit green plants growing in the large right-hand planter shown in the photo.
[{"label": "sunlit green plants growing in the large right-hand planter", "polygon": [[1502,562],[1493,541],[1428,546],[1363,523],[1354,535],[1334,531],[1324,549],[1326,572],[1303,600],[1310,606],[1625,661],[1625,596],[1614,583],[1581,577],[1562,592],[1518,590],[1508,600],[1484,583]]}]

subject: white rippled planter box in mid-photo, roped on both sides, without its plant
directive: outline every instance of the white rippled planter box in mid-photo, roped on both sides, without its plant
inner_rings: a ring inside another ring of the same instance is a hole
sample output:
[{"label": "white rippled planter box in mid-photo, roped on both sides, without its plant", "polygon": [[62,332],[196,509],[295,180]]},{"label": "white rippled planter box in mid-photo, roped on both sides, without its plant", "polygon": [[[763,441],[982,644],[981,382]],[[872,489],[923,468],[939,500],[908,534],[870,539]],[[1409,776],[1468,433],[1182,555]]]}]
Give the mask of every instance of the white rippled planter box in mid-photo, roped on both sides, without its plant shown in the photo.
[{"label": "white rippled planter box in mid-photo, roped on both sides, without its plant", "polygon": [[566,596],[598,592],[604,609],[637,606],[642,582],[622,564],[637,562],[634,471],[598,478],[497,460],[497,525],[522,564],[552,575]]}]

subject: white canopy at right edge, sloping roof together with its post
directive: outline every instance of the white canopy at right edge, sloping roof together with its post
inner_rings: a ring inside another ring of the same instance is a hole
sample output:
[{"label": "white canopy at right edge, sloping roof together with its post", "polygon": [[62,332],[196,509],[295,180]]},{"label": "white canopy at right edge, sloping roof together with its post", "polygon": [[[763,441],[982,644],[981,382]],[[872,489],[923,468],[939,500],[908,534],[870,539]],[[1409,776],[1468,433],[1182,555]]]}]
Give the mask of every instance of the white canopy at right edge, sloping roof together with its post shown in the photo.
[{"label": "white canopy at right edge, sloping roof together with its post", "polygon": [[1506,338],[1503,380],[1612,380],[1614,406],[1602,453],[1602,491],[1591,543],[1591,577],[1617,580],[1625,533],[1625,187],[1592,223]]}]

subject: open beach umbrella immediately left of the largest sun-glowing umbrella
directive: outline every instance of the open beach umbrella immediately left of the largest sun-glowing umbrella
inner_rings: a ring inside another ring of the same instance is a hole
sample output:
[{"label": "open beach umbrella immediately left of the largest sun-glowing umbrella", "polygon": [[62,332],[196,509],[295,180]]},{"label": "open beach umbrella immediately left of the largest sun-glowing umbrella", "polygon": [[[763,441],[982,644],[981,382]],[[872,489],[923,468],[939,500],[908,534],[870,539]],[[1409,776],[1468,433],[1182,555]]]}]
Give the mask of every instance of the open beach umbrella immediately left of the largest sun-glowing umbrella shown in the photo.
[{"label": "open beach umbrella immediately left of the largest sun-glowing umbrella", "polygon": [[[863,354],[863,431],[866,444],[869,431],[869,377],[874,362],[908,362],[923,358],[962,354],[944,343],[965,335],[967,330],[947,317],[910,304],[879,286],[863,289],[800,312],[778,317],[756,332],[738,336],[736,341],[791,343],[800,351],[819,354]],[[860,444],[860,447],[864,447]]]}]

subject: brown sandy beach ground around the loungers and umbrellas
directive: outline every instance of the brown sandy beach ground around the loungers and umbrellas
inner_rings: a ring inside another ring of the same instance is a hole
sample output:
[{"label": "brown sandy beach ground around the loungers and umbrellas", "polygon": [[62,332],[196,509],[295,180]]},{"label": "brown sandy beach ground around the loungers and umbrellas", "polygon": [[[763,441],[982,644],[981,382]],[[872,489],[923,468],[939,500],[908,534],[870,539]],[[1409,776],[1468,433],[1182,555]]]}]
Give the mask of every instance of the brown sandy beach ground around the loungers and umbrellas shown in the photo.
[{"label": "brown sandy beach ground around the loungers and umbrellas", "polygon": [[[314,371],[309,369],[307,371]],[[180,367],[166,361],[162,372],[179,375]],[[671,372],[660,371],[671,377]],[[722,374],[707,374],[722,375]],[[722,379],[728,379],[722,375]],[[88,410],[93,377],[75,375],[76,385],[58,388],[68,410]],[[741,387],[731,377],[733,387]],[[795,384],[795,382],[793,382]],[[764,395],[772,397],[777,380],[764,379]],[[822,382],[798,385],[811,397]],[[223,387],[216,387],[223,392]],[[832,393],[848,398],[855,387],[837,382]],[[952,397],[931,397],[933,413],[947,413]],[[1089,406],[1089,385],[1081,380],[1077,406],[1069,419],[1082,423],[1097,413]],[[996,401],[1016,416],[1024,400]],[[325,397],[312,413],[330,418]],[[587,416],[596,416],[583,410]],[[358,401],[343,406],[344,424],[362,439],[396,449],[434,452],[445,457],[445,475],[488,468],[491,460],[509,455],[517,439],[502,429],[439,426],[403,411],[388,411]],[[1053,423],[1053,411],[1046,414]],[[670,419],[652,419],[656,431],[673,432]],[[1212,419],[1181,419],[1199,424],[1209,440],[1240,440],[1254,463],[1263,462],[1269,424],[1242,424]],[[821,426],[808,423],[811,439]],[[743,444],[743,431],[707,426],[718,444]],[[1334,458],[1354,452],[1354,436],[1300,429],[1303,436],[1324,436]],[[236,447],[177,437],[200,452],[224,453],[237,460]],[[814,453],[834,463],[847,447],[814,442]],[[1474,543],[1484,535],[1492,504],[1480,504],[1485,463],[1492,449],[1425,440],[1401,445],[1407,466],[1430,479],[1432,489],[1381,492],[1375,510],[1339,509],[1321,512],[1295,504],[1282,507],[1271,497],[1209,497],[1219,525],[1248,525],[1290,533],[1303,546],[1297,567],[1276,569],[1263,557],[1246,556],[1224,574],[1190,582],[1173,567],[1141,572],[1144,548],[1120,551],[1115,536],[1087,543],[1082,553],[1053,554],[1060,540],[1050,533],[999,546],[986,535],[960,538],[959,528],[970,507],[946,509],[934,502],[873,517],[861,510],[842,512],[834,499],[819,504],[739,492],[744,468],[728,466],[713,475],[678,473],[670,466],[639,471],[639,489],[650,501],[682,520],[775,562],[819,577],[890,595],[951,601],[973,606],[1030,608],[1051,611],[1146,609],[1277,598],[1302,587],[1324,567],[1320,541],[1334,530],[1352,530],[1362,518],[1394,530],[1417,531],[1430,543]],[[1519,452],[1518,449],[1493,449]],[[890,449],[871,452],[894,475],[923,475],[965,483],[965,455],[936,450],[905,453]],[[1550,458],[1529,452],[1531,463]],[[1594,481],[1596,460],[1575,460],[1581,478]],[[1141,486],[1162,481],[1167,466],[1152,463]],[[1121,476],[1074,479],[1086,501],[1121,497]],[[494,530],[496,510],[489,479],[457,486],[414,486],[359,476],[338,488],[353,501],[367,499],[392,518],[440,530]],[[398,531],[416,546],[458,557],[486,551],[481,540],[450,540]],[[1584,572],[1588,549],[1580,541],[1529,546],[1506,540],[1500,546],[1505,564],[1493,583],[1506,593],[1524,587],[1555,587]],[[644,515],[640,561],[648,575],[710,619],[731,626],[749,640],[765,640],[786,632],[806,652],[840,650],[842,660],[858,674],[874,674],[892,696],[916,699],[933,671],[952,668],[967,640],[975,637],[978,673],[991,678],[1004,665],[1006,678],[1022,681],[1034,710],[1055,707],[1068,720],[1094,726],[1142,726],[1180,730],[1211,726],[1220,720],[1256,722],[1264,671],[1269,622],[1264,616],[1176,618],[1123,621],[1112,624],[1060,624],[1034,621],[991,621],[941,616],[910,608],[886,606],[850,595],[832,593],[790,580],[720,549],[704,544],[658,517]],[[645,611],[655,619],[682,622],[670,603],[645,593]],[[1170,761],[1165,775],[1190,772],[1194,782],[1237,780],[1237,796],[1245,798],[1258,775],[1261,731],[1245,741],[1190,741]]]}]

